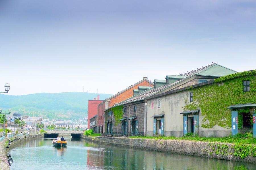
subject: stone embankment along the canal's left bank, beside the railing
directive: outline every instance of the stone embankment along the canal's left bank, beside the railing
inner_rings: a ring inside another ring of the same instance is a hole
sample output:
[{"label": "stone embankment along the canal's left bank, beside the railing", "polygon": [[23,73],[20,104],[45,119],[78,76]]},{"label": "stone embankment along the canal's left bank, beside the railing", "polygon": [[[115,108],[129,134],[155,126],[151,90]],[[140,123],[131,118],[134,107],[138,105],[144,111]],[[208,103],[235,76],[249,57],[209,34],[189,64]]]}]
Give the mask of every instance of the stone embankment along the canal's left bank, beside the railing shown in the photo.
[{"label": "stone embankment along the canal's left bank, beside the railing", "polygon": [[[0,141],[0,170],[10,170],[9,163],[7,162],[7,152],[15,145],[17,145],[19,142],[28,140],[35,137],[43,137],[43,135],[22,135],[22,136],[13,136],[13,137],[6,137],[3,141]],[[9,143],[9,140],[11,141],[11,144],[8,145],[9,148],[6,148],[5,143]],[[15,161],[15,160],[13,160]]]}]

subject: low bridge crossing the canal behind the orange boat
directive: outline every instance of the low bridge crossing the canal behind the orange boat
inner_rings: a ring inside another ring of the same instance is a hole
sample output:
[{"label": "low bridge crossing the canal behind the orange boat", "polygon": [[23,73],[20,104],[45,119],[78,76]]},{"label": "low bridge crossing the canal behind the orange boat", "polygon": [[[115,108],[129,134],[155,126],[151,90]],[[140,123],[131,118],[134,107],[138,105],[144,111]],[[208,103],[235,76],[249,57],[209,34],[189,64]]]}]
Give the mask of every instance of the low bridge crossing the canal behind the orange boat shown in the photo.
[{"label": "low bridge crossing the canal behind the orange boat", "polygon": [[77,138],[81,137],[84,129],[44,129],[44,137],[57,138],[58,136]]}]

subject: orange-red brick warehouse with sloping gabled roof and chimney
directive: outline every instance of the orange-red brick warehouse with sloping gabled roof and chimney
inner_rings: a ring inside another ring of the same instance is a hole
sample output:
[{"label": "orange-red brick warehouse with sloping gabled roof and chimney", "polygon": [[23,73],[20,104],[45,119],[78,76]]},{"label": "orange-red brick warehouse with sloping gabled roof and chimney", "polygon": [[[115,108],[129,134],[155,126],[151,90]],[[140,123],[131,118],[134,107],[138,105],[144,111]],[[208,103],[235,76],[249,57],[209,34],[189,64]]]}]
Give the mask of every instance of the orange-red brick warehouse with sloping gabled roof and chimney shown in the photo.
[{"label": "orange-red brick warehouse with sloping gabled roof and chimney", "polygon": [[130,97],[133,96],[133,90],[138,89],[139,86],[154,86],[154,83],[150,82],[148,80],[148,77],[143,77],[143,79],[125,90],[122,90],[121,92],[118,92],[115,95],[112,95],[108,99],[105,99],[98,105],[98,131],[100,133],[105,132],[105,113],[104,111],[112,106],[115,105],[115,103],[119,103],[121,101],[124,101]]}]

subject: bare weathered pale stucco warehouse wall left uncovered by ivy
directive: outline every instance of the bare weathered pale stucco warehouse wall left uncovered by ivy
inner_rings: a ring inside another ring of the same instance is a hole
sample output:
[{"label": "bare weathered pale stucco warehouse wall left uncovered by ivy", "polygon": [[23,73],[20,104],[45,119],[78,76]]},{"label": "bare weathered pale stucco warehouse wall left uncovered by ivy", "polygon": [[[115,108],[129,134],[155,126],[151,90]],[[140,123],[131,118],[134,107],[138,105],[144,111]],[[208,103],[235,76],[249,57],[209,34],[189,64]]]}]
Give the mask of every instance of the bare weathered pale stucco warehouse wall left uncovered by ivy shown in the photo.
[{"label": "bare weathered pale stucco warehouse wall left uncovered by ivy", "polygon": [[[151,116],[164,114],[164,135],[183,136],[183,114],[185,98],[189,97],[189,90],[177,92],[170,95],[147,100],[147,135],[153,136],[154,118]],[[158,108],[158,100],[161,100],[161,107]],[[152,108],[153,102],[153,108]],[[213,115],[214,116],[214,115]],[[202,128],[202,114],[199,111],[199,135],[204,137],[224,137],[230,135],[231,129],[222,128],[218,125],[213,128]]]}]

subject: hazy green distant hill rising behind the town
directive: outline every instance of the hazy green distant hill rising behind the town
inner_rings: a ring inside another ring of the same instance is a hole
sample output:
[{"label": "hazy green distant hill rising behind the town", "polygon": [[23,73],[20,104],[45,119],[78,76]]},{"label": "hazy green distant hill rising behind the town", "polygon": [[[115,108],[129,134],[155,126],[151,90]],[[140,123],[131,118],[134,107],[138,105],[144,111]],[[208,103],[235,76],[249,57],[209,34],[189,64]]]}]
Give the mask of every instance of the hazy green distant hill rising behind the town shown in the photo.
[{"label": "hazy green distant hill rising behind the town", "polygon": [[[104,100],[111,94],[98,94]],[[3,111],[11,108],[12,113],[19,112],[32,116],[50,119],[79,119],[87,116],[88,99],[97,97],[95,93],[65,92],[65,93],[36,93],[28,95],[0,94],[0,108]]]}]

